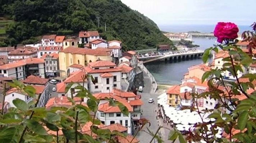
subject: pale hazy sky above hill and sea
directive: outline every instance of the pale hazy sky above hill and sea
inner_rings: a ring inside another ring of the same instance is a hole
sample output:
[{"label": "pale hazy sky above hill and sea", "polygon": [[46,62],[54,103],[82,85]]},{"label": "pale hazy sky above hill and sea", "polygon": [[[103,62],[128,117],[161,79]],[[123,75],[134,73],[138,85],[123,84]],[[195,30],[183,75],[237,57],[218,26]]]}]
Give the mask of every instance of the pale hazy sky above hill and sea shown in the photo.
[{"label": "pale hazy sky above hill and sea", "polygon": [[212,25],[218,21],[251,25],[256,0],[121,0],[157,25]]}]

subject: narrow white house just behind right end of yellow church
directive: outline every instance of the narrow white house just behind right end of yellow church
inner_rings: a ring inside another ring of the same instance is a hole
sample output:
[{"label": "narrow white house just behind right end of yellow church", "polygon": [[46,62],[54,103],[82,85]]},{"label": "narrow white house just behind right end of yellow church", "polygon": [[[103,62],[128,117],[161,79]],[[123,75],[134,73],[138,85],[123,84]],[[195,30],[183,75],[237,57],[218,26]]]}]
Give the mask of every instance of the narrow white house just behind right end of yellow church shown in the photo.
[{"label": "narrow white house just behind right end of yellow church", "polygon": [[120,58],[122,56],[122,42],[118,40],[109,41],[109,49],[112,50],[111,55],[113,58]]}]

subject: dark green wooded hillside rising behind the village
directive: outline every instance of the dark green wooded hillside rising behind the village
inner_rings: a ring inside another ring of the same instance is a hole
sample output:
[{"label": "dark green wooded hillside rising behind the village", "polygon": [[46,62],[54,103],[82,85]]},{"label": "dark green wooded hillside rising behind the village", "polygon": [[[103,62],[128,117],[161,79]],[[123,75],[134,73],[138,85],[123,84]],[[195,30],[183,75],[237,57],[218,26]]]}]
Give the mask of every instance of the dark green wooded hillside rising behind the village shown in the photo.
[{"label": "dark green wooded hillside rising behind the village", "polygon": [[120,0],[2,0],[0,5],[0,16],[16,21],[4,39],[12,45],[34,42],[43,34],[77,35],[80,30],[98,30],[104,39],[122,40],[125,50],[173,45],[152,20]]}]

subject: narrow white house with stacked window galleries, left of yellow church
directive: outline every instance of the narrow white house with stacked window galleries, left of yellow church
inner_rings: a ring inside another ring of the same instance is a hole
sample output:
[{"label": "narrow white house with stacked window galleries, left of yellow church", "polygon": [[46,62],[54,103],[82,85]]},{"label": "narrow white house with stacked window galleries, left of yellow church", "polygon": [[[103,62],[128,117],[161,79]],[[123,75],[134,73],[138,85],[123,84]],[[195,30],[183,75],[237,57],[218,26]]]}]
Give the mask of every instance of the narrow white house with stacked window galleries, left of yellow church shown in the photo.
[{"label": "narrow white house with stacked window galleries, left of yellow church", "polygon": [[44,54],[42,59],[45,60],[46,77],[59,77],[59,54]]}]

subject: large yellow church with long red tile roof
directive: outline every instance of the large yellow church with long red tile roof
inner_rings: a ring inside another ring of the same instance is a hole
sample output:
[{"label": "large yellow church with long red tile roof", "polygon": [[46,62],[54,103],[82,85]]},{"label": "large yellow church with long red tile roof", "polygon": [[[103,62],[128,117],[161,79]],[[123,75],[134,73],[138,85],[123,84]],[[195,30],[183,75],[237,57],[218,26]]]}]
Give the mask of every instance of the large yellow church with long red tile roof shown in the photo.
[{"label": "large yellow church with long red tile roof", "polygon": [[68,70],[70,65],[79,64],[86,66],[88,63],[95,62],[96,60],[111,61],[109,49],[84,49],[69,46],[59,52],[60,70],[64,71],[60,74],[62,77],[67,76],[70,73]]}]

